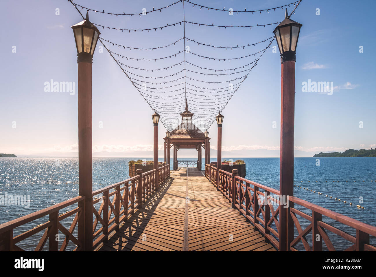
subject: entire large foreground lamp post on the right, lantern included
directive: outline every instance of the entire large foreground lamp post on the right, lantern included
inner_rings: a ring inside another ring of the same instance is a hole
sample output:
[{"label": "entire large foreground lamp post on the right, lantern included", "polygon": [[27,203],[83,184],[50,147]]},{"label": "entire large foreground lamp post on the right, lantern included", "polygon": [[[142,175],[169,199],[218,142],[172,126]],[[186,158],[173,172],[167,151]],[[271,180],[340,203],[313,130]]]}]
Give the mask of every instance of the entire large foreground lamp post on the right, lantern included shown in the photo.
[{"label": "entire large foreground lamp post on the right, lantern included", "polygon": [[[296,46],[301,27],[302,24],[288,18],[286,9],[285,19],[273,31],[281,57],[279,192],[282,197],[286,197],[285,199],[294,195],[295,62]],[[288,251],[290,242],[293,240],[294,226],[291,216],[287,214],[287,205],[282,205],[281,209],[279,214],[279,250]]]}]

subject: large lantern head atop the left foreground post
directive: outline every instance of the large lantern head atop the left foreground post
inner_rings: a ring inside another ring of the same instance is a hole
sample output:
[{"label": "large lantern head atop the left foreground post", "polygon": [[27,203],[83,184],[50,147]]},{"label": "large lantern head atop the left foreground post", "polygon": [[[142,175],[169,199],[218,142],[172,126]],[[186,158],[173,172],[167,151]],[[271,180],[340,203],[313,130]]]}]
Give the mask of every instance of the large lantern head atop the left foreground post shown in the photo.
[{"label": "large lantern head atop the left foreground post", "polygon": [[94,50],[98,42],[100,32],[97,27],[89,21],[89,11],[86,12],[85,20],[71,26],[74,39],[76,40],[77,62],[87,61],[92,63]]}]

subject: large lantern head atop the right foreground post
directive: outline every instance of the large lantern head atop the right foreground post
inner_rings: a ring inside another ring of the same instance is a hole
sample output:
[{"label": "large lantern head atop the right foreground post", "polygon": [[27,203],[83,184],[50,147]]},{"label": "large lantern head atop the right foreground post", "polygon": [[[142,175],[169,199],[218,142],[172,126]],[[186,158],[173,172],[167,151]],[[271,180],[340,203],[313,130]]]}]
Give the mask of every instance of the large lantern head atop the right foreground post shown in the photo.
[{"label": "large lantern head atop the right foreground post", "polygon": [[281,63],[284,61],[296,61],[296,46],[300,27],[302,26],[302,24],[288,18],[286,9],[284,21],[273,31],[281,54]]}]

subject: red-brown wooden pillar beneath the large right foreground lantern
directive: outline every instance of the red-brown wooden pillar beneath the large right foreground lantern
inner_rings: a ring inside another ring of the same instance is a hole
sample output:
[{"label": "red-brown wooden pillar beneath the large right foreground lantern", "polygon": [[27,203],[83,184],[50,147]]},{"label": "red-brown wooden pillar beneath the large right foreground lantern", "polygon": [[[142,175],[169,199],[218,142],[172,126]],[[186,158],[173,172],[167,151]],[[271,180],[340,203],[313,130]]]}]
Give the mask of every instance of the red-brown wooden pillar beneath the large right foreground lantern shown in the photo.
[{"label": "red-brown wooden pillar beneath the large right foreground lantern", "polygon": [[[294,195],[294,109],[295,109],[295,61],[281,64],[281,133],[279,192],[281,200]],[[285,196],[285,197],[283,197]],[[293,207],[293,203],[288,203]],[[294,226],[287,213],[287,205],[281,201],[279,214],[279,250],[288,251],[293,240]],[[288,222],[287,222],[288,221]]]}]

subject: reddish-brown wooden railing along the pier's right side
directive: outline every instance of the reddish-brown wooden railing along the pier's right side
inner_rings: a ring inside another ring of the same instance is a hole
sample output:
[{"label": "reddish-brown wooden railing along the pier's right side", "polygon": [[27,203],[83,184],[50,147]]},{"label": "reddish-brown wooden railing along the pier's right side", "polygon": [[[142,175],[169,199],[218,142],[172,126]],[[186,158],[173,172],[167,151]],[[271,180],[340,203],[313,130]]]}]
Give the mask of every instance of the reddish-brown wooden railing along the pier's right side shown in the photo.
[{"label": "reddish-brown wooden railing along the pier's right side", "polygon": [[[288,223],[290,222],[290,225],[287,226],[287,237],[292,237],[291,241],[287,243],[291,251],[322,251],[323,242],[327,250],[335,251],[333,240],[336,240],[337,244],[341,243],[341,245],[336,245],[340,250],[376,251],[376,247],[370,243],[370,236],[373,239],[376,237],[376,227],[374,226],[294,196],[284,199],[278,190],[238,176],[237,170],[229,173],[206,164],[205,176],[229,199],[232,207],[239,210],[245,220],[252,223],[255,229],[264,236],[265,241],[273,244],[276,249],[279,249],[279,240],[281,239],[279,237],[279,214],[286,212]],[[280,203],[280,200],[284,201]],[[301,207],[299,210],[297,205]],[[312,215],[304,213],[302,210],[311,211]],[[322,216],[328,218],[326,222],[323,221]],[[307,226],[303,229],[302,224]],[[345,231],[333,225],[342,225]],[[351,230],[355,233],[355,236],[348,233]],[[293,234],[289,234],[289,232]],[[311,232],[312,239],[307,239],[306,237]],[[328,232],[331,232],[331,234],[329,235]],[[347,241],[350,245],[344,248],[343,245],[346,242],[338,242],[334,237],[335,235]],[[287,238],[285,239],[287,240]],[[299,242],[302,245],[297,247]]]}]

